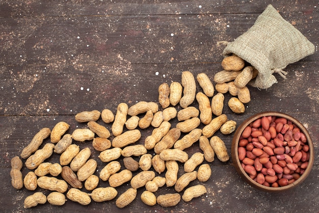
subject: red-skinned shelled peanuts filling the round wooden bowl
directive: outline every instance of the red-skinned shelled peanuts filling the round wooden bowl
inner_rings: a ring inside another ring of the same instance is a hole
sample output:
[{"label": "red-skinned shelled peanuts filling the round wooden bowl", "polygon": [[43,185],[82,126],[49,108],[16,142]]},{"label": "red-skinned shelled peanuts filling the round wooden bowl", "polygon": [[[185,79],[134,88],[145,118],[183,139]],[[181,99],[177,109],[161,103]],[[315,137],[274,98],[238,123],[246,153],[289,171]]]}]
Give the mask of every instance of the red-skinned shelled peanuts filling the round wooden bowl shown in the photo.
[{"label": "red-skinned shelled peanuts filling the round wooden bowl", "polygon": [[266,187],[284,187],[304,173],[309,146],[291,121],[264,116],[250,123],[238,142],[238,158],[245,172]]}]

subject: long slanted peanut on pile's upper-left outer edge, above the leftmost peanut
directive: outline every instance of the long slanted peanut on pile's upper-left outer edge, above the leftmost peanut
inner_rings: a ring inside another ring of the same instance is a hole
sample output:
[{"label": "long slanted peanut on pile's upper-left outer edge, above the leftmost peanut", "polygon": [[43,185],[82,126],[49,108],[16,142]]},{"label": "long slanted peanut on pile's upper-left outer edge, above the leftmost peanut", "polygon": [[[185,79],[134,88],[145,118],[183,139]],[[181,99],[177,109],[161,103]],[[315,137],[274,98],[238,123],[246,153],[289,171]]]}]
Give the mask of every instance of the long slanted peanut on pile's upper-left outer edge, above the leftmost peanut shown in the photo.
[{"label": "long slanted peanut on pile's upper-left outer edge, above the leftmost peanut", "polygon": [[20,156],[22,158],[27,158],[29,157],[33,152],[37,151],[38,148],[41,146],[43,143],[43,140],[49,137],[51,133],[51,130],[49,128],[42,128],[32,139],[30,144],[26,146]]}]

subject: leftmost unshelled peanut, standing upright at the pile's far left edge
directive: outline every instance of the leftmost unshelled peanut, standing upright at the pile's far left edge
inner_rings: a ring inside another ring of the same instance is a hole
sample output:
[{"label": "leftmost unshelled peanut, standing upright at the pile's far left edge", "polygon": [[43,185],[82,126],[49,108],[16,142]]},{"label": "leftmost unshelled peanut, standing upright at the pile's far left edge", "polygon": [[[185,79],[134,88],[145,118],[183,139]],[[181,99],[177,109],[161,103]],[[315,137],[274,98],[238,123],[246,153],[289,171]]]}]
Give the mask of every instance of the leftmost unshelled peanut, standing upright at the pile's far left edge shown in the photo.
[{"label": "leftmost unshelled peanut, standing upright at the pile's far left edge", "polygon": [[23,187],[23,180],[22,180],[22,161],[19,156],[15,156],[11,159],[11,184],[14,189],[21,189]]}]

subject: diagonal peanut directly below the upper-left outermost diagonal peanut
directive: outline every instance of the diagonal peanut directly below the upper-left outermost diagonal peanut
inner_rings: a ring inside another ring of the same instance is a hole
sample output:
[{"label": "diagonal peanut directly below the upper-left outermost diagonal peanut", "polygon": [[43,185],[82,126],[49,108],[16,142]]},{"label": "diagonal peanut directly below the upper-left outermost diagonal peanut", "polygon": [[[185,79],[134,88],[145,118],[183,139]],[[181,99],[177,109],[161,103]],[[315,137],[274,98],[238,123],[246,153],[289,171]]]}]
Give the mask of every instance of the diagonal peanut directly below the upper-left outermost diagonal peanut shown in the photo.
[{"label": "diagonal peanut directly below the upper-left outermost diagonal peanut", "polygon": [[44,162],[44,160],[48,157],[50,157],[53,153],[55,145],[52,143],[47,143],[43,146],[42,149],[37,150],[33,155],[28,157],[25,161],[25,166],[28,169],[35,169],[37,168],[41,163]]}]

